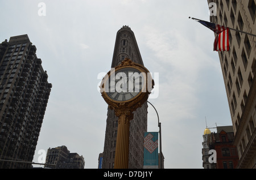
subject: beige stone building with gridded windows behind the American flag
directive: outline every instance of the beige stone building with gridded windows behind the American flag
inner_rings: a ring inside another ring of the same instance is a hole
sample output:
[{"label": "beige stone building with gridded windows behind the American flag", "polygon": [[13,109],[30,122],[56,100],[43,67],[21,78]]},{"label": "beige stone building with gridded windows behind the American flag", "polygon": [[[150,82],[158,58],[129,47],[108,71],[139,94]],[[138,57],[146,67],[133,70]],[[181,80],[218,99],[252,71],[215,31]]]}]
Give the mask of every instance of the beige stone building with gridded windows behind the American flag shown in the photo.
[{"label": "beige stone building with gridded windows behind the American flag", "polygon": [[[256,35],[255,0],[208,3],[217,7],[210,22]],[[240,158],[237,168],[256,168],[256,37],[230,30],[229,45],[229,52],[218,54]]]}]

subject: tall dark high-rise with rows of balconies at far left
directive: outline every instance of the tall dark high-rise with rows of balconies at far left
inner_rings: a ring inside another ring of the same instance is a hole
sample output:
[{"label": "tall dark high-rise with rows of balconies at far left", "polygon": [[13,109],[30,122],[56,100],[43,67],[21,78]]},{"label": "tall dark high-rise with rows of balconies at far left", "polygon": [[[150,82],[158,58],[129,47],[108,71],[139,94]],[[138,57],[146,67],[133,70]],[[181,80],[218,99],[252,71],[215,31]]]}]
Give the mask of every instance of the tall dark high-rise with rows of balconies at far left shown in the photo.
[{"label": "tall dark high-rise with rows of balconies at far left", "polygon": [[[0,44],[0,168],[30,168],[51,92],[27,35]],[[2,161],[8,160],[8,161]]]}]

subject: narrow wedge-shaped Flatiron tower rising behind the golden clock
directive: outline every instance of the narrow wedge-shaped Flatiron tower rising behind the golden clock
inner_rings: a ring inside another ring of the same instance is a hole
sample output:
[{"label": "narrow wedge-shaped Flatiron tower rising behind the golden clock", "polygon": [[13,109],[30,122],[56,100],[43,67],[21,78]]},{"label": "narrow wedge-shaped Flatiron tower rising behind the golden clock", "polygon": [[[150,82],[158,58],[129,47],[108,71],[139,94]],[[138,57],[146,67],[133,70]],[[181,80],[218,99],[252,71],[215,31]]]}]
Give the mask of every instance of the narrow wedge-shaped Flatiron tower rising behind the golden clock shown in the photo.
[{"label": "narrow wedge-shaped Flatiron tower rising behind the golden clock", "polygon": [[[128,26],[123,26],[117,32],[115,39],[112,68],[119,65],[125,58],[143,65],[141,53],[137,45],[133,31]],[[134,119],[130,121],[130,144],[129,144],[129,168],[143,168],[143,139],[147,131],[147,102],[134,112]],[[106,119],[105,143],[103,152],[102,168],[114,168],[115,144],[117,140],[118,117],[114,110],[108,108]]]}]

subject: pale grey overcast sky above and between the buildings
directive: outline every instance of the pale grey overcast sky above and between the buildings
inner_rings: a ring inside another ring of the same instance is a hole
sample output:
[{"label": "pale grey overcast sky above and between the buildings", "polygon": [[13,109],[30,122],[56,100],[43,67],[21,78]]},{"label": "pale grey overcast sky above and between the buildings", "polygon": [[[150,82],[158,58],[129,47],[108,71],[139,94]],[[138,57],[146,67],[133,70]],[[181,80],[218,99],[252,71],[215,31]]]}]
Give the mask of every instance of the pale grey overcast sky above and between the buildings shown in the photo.
[{"label": "pale grey overcast sky above and between the buildings", "polygon": [[[208,9],[206,0],[0,0],[0,41],[27,34],[52,83],[33,161],[40,149],[65,145],[86,169],[98,167],[108,107],[98,75],[110,70],[116,33],[129,25],[144,66],[159,75],[158,97],[148,101],[162,123],[164,168],[203,168],[205,117],[208,127],[232,125],[214,34],[188,19],[209,20]],[[158,130],[148,105],[148,131]]]}]

